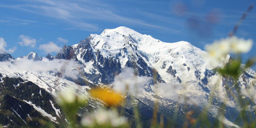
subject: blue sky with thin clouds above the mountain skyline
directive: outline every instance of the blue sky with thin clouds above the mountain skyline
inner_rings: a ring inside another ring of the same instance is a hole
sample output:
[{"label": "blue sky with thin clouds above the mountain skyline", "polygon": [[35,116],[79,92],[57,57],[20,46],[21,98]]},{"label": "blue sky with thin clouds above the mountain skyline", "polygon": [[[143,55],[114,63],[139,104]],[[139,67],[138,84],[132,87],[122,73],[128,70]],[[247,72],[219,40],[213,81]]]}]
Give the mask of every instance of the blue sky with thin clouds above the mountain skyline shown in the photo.
[{"label": "blue sky with thin clouds above the mountain skyline", "polygon": [[[251,3],[256,5],[255,0],[2,0],[0,37],[15,58],[31,51],[56,55],[64,44],[119,26],[204,49],[205,44],[227,37]],[[236,35],[256,42],[255,34],[254,8]],[[254,55],[252,50],[245,57]]]}]

